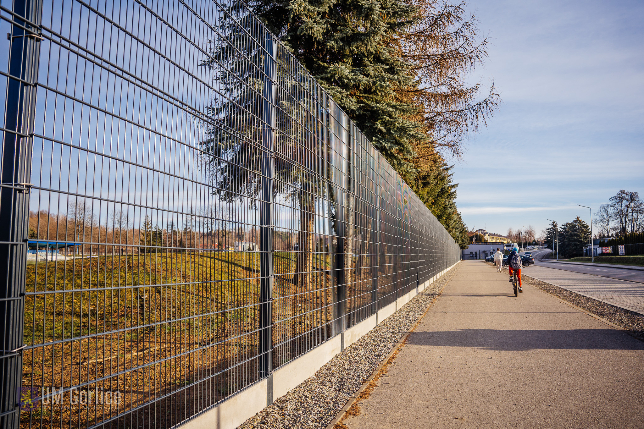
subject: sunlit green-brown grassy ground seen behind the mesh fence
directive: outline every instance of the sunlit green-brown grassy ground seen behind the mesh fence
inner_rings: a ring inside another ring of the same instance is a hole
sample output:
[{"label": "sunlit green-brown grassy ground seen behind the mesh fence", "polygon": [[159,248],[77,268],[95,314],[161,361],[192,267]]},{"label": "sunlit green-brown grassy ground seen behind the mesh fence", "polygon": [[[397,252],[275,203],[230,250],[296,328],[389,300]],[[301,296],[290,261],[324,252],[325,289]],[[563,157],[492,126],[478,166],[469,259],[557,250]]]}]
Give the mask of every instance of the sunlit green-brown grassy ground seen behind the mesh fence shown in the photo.
[{"label": "sunlit green-brown grassy ground seen behind the mesh fence", "polygon": [[[334,333],[333,264],[333,255],[314,255],[314,286],[299,290],[290,281],[296,254],[275,253],[273,343],[284,345],[276,365],[296,357],[294,338],[315,343],[324,338],[311,336]],[[351,309],[369,302],[372,281],[349,271],[345,307]],[[23,424],[31,418],[33,427],[35,417],[42,419],[38,426],[52,419],[88,426],[224,371],[214,381],[218,397],[207,400],[213,403],[258,377],[249,369],[260,338],[257,252],[38,262],[27,266],[26,294],[23,386],[30,395],[43,394],[34,387],[85,384],[86,395],[122,392],[122,403],[113,410],[65,407],[73,399],[65,394],[60,404],[24,410]],[[235,367],[240,362],[246,363]]]}]

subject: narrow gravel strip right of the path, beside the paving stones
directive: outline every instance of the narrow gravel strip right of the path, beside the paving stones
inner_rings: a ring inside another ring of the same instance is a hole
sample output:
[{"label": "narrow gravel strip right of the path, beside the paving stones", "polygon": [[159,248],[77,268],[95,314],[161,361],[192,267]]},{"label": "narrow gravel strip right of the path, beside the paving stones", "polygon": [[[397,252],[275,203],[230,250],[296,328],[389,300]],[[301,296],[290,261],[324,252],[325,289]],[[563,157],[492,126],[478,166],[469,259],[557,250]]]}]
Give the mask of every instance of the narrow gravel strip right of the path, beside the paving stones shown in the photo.
[{"label": "narrow gravel strip right of the path, beside the paving stones", "polygon": [[[493,264],[490,265],[493,266]],[[507,268],[504,268],[504,270],[507,272]],[[621,307],[611,306],[611,304],[606,304],[605,302],[585,297],[584,295],[579,295],[576,292],[560,288],[559,286],[554,286],[554,284],[549,284],[542,280],[537,280],[536,278],[529,277],[523,273],[521,277],[527,283],[535,286],[535,288],[551,293],[555,297],[561,298],[562,300],[580,307],[593,315],[598,315],[601,318],[626,329],[631,336],[634,336],[638,340],[644,341],[644,315],[640,315],[639,313],[635,313],[634,311],[623,309]]]}]

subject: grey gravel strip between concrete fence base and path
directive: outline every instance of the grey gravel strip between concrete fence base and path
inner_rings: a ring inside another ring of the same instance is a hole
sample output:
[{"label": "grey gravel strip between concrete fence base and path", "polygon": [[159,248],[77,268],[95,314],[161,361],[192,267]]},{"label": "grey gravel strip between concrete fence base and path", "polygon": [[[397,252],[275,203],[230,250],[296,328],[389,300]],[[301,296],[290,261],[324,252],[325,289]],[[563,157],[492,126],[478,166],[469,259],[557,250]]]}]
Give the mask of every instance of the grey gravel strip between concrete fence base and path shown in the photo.
[{"label": "grey gravel strip between concrete fence base and path", "polygon": [[334,356],[314,376],[255,414],[239,428],[326,428],[438,297],[458,267],[442,275],[363,338]]}]

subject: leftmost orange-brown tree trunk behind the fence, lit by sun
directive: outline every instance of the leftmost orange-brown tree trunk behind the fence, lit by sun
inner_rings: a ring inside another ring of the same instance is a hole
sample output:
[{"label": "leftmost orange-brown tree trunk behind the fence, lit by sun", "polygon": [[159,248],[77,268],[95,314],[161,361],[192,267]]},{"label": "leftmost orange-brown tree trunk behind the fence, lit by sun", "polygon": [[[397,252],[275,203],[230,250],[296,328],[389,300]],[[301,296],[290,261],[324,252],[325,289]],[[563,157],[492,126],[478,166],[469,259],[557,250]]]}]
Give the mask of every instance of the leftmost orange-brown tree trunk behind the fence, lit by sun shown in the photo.
[{"label": "leftmost orange-brown tree trunk behind the fence, lit by sun", "polygon": [[315,219],[315,200],[305,196],[300,200],[298,259],[293,282],[299,288],[313,288],[311,271],[313,269],[313,224]]}]

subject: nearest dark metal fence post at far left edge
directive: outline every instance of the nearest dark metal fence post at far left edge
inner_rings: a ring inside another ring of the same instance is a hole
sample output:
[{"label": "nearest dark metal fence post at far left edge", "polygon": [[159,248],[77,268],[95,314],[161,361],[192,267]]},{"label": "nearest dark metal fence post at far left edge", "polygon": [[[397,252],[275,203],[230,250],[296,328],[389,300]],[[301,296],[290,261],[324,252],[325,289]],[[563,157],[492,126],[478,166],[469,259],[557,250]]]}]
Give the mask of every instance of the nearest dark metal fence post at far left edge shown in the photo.
[{"label": "nearest dark metal fence post at far left edge", "polygon": [[[24,276],[38,69],[38,1],[14,0],[0,187],[0,427],[17,428],[23,372]],[[24,19],[21,19],[24,18]],[[37,393],[35,393],[37,394]]]}]

